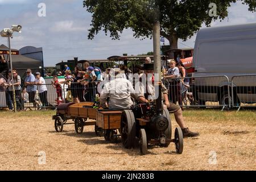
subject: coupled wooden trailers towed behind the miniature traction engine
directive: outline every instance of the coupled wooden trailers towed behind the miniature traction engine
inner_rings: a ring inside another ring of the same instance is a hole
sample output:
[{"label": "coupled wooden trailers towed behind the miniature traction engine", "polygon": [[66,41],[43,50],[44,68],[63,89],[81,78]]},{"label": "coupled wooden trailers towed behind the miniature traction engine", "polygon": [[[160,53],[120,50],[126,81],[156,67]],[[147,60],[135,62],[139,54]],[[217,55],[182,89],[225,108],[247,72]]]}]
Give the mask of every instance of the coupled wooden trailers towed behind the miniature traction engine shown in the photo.
[{"label": "coupled wooden trailers towed behind the miniature traction engine", "polygon": [[[93,102],[66,103],[57,107],[56,115],[52,119],[55,121],[55,130],[63,131],[64,125],[75,124],[75,131],[81,134],[84,126],[94,125],[97,136],[114,142],[118,136],[118,129],[121,125],[121,110],[105,110],[93,108]],[[72,119],[72,123],[67,121]],[[90,119],[90,121],[88,121]]]}]

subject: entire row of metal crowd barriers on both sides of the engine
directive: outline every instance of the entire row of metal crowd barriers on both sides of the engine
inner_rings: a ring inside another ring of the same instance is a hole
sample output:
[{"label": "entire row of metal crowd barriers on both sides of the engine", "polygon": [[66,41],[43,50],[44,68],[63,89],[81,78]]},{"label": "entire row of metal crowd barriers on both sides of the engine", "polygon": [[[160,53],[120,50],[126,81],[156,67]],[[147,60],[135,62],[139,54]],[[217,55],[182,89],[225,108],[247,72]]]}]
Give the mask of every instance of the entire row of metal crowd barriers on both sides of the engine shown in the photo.
[{"label": "entire row of metal crowd barriers on both sides of the engine", "polygon": [[[181,107],[256,107],[256,75],[236,75],[229,81],[227,76],[200,76],[163,79],[170,102]],[[98,83],[84,86],[78,82],[61,84],[57,89],[46,84],[47,92],[27,93],[16,91],[18,109],[52,108],[62,102],[74,100],[94,102]],[[39,86],[39,85],[37,85]],[[0,86],[0,107],[13,107],[12,92]]]}]

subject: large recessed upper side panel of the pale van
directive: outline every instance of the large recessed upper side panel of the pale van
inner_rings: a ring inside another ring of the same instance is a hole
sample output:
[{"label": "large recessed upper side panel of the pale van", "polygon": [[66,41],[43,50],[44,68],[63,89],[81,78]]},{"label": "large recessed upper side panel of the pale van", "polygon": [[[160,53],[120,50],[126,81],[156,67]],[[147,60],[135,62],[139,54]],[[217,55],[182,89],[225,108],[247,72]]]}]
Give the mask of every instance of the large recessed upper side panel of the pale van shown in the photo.
[{"label": "large recessed upper side panel of the pale van", "polygon": [[256,71],[256,37],[199,42],[198,73],[253,73]]}]

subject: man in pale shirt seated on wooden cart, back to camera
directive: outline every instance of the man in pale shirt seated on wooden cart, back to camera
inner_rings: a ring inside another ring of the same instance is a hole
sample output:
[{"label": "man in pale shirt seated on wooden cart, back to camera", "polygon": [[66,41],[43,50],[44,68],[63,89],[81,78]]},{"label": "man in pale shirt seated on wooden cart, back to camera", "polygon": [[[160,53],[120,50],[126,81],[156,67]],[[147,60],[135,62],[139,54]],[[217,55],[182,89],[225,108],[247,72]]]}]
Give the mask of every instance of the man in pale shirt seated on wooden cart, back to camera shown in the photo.
[{"label": "man in pale shirt seated on wooden cart, back to camera", "polygon": [[134,104],[131,100],[135,92],[133,85],[129,80],[122,78],[119,68],[112,70],[110,75],[115,75],[115,77],[106,81],[100,94],[100,105],[104,109],[129,109]]}]

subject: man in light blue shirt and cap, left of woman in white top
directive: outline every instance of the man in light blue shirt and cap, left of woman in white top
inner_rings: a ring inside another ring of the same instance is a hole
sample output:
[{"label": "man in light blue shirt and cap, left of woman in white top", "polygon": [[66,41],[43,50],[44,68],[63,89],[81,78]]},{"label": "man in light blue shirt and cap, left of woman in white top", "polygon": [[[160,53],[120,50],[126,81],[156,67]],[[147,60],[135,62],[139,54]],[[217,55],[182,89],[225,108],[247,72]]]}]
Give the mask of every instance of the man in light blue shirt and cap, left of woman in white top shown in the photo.
[{"label": "man in light blue shirt and cap, left of woman in white top", "polygon": [[35,85],[35,76],[31,73],[31,69],[27,69],[27,76],[25,78],[25,86],[28,93],[28,100],[32,102],[34,107],[36,107],[35,95],[36,95],[36,85]]}]

